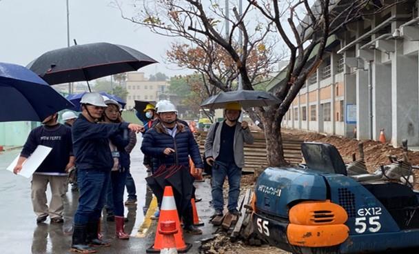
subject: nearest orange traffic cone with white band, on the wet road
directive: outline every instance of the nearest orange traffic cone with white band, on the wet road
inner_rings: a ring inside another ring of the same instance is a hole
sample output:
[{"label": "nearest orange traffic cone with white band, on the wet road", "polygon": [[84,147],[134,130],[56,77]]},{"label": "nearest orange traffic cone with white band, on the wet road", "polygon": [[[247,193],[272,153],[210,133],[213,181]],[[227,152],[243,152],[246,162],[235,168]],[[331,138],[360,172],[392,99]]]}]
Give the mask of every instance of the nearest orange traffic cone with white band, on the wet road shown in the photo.
[{"label": "nearest orange traffic cone with white band, on the wet road", "polygon": [[[164,234],[161,233],[162,225],[165,222],[175,222],[176,233],[174,233],[174,242],[178,253],[186,253],[192,247],[192,244],[185,243],[181,229],[181,222],[179,221],[178,211],[176,209],[176,202],[174,201],[172,186],[166,186],[163,194],[163,201],[161,202],[159,224],[157,225],[156,238],[154,245],[147,249],[147,253],[160,253],[163,248],[167,248]],[[164,230],[163,230],[164,231]]]}]

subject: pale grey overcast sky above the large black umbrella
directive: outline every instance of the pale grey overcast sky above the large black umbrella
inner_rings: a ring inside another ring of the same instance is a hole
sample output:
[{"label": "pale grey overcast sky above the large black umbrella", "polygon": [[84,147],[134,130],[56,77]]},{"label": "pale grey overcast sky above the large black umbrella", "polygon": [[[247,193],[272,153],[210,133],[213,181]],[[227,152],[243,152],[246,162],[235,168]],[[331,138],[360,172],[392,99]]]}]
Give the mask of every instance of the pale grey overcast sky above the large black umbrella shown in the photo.
[{"label": "pale grey overcast sky above the large black umbrella", "polygon": [[[123,20],[110,1],[70,0],[71,45],[76,39],[78,44],[110,42],[135,48],[160,63],[141,69],[147,77],[190,72],[165,64],[173,39]],[[67,46],[65,0],[0,0],[0,28],[0,61],[26,66],[43,52]]]}]

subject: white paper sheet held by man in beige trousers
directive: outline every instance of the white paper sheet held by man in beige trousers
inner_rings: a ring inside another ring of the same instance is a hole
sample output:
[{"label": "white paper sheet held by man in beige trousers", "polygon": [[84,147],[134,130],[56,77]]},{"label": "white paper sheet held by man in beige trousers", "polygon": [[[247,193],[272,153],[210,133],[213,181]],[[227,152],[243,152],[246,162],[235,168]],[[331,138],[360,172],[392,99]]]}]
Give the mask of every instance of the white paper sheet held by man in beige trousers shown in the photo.
[{"label": "white paper sheet held by man in beige trousers", "polygon": [[[52,148],[48,146],[41,146],[39,145],[32,155],[28,159],[25,160],[22,164],[22,170],[18,175],[21,175],[23,177],[29,178],[32,176],[32,174],[37,170],[39,165],[43,162],[43,160],[50,154]],[[17,155],[16,159],[10,164],[7,168],[7,170],[13,172],[13,168],[17,165],[17,161],[20,157],[20,154]]]}]

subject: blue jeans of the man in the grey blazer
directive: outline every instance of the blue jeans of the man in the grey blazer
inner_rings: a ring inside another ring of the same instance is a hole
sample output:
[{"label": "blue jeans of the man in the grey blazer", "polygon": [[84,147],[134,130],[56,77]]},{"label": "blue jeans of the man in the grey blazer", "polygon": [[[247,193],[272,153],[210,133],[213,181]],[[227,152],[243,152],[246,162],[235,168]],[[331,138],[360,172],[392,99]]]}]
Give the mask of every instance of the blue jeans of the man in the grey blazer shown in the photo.
[{"label": "blue jeans of the man in the grey blazer", "polygon": [[229,211],[237,209],[238,195],[240,194],[241,168],[234,162],[226,164],[214,162],[212,166],[212,206],[215,210],[223,211],[223,184],[225,177],[228,179],[228,205]]}]

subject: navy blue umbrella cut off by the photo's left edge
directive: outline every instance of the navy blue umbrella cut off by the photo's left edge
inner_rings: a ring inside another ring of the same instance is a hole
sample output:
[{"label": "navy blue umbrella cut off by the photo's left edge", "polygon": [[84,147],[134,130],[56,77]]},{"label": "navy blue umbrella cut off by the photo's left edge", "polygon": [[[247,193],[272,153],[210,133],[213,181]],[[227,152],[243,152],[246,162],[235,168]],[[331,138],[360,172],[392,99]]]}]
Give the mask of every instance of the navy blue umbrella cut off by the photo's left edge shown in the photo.
[{"label": "navy blue umbrella cut off by the photo's left edge", "polygon": [[0,63],[0,121],[42,121],[73,106],[31,70]]}]

